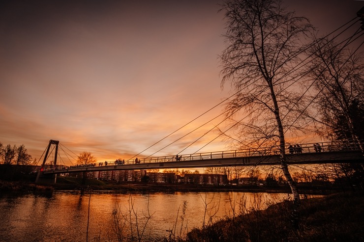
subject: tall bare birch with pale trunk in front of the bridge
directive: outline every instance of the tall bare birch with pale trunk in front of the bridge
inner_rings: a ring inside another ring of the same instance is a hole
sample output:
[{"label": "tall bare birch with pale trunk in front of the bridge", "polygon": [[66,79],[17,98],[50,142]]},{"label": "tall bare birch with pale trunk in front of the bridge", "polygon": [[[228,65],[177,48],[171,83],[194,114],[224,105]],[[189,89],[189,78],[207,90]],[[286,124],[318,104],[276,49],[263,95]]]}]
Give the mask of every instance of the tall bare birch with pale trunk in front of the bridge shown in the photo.
[{"label": "tall bare birch with pale trunk in front of the bridge", "polygon": [[229,115],[237,110],[248,114],[249,120],[238,126],[239,139],[248,137],[246,145],[278,147],[296,211],[300,196],[287,166],[285,133],[302,129],[297,119],[303,100],[292,88],[298,79],[291,71],[300,61],[303,41],[312,26],[306,18],[288,12],[280,0],[231,0],[221,10],[225,12],[227,45],[220,55],[221,85],[230,81],[239,91],[227,106]]}]

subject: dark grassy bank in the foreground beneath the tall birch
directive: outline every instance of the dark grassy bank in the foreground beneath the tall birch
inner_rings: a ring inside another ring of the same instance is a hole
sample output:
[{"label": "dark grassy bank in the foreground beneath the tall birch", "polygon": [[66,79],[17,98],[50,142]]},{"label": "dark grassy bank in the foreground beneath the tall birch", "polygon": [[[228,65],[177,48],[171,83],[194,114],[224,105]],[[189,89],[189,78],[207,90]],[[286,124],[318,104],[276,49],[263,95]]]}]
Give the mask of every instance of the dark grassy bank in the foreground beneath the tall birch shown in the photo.
[{"label": "dark grassy bank in the foreground beneath the tall birch", "polygon": [[363,192],[303,199],[300,227],[296,230],[291,224],[292,202],[286,201],[264,211],[241,211],[241,215],[236,217],[194,229],[183,241],[361,242],[364,241],[363,204]]}]

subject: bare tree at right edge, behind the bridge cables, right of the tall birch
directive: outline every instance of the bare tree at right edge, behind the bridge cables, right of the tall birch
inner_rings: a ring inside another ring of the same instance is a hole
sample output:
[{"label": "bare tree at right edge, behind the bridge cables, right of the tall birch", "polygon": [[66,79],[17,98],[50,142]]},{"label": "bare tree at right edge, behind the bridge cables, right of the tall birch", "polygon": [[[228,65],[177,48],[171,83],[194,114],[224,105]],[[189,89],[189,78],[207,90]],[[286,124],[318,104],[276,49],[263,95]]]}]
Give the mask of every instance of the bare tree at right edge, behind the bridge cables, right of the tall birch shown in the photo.
[{"label": "bare tree at right edge, behind the bridge cables, right of the tall birch", "polygon": [[[318,92],[315,105],[324,129],[319,134],[331,139],[350,139],[364,146],[358,129],[362,126],[354,122],[353,105],[364,104],[364,63],[361,54],[351,53],[349,49],[333,40],[315,41],[312,46],[309,76]],[[341,118],[342,117],[342,118]],[[358,120],[363,119],[359,117]],[[344,121],[341,122],[340,121]],[[338,127],[341,126],[341,127]],[[322,127],[321,127],[322,128]],[[326,129],[325,129],[326,128]],[[341,129],[341,137],[333,131]],[[346,137],[342,137],[344,136]]]}]

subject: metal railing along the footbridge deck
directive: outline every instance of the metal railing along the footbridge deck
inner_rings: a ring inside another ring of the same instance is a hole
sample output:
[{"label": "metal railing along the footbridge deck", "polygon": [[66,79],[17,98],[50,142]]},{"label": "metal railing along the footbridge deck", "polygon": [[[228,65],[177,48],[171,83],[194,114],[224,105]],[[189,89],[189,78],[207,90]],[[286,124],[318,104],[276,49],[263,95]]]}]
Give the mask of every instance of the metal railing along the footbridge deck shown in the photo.
[{"label": "metal railing along the footbridge deck", "polygon": [[[315,147],[315,146],[316,147]],[[347,151],[347,150],[360,150],[358,144],[353,142],[320,142],[320,143],[307,143],[296,147],[292,144],[293,148],[286,147],[286,154],[303,154],[303,153],[320,153],[330,151]],[[105,161],[87,165],[69,166],[68,169],[80,167],[93,167],[100,165],[123,165],[123,164],[140,164],[140,163],[156,163],[156,162],[175,162],[175,161],[196,161],[196,160],[212,160],[223,158],[243,158],[243,157],[256,157],[256,156],[272,156],[279,155],[279,148],[265,147],[257,149],[242,149],[231,151],[217,151],[199,154],[188,154],[179,156],[163,156],[163,157],[149,157],[137,158],[130,160],[118,161]],[[49,170],[49,169],[48,169]]]}]

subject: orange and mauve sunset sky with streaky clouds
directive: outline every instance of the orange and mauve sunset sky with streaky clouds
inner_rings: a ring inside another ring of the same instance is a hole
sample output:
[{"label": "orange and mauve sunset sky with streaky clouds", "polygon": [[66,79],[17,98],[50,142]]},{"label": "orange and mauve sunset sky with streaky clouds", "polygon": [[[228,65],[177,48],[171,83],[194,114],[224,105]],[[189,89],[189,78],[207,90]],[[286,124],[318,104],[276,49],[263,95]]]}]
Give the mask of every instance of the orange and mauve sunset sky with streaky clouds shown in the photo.
[{"label": "orange and mauve sunset sky with streaky clouds", "polygon": [[[320,33],[364,1],[290,0]],[[229,96],[218,0],[4,0],[0,7],[0,142],[39,159],[50,139],[99,161],[129,159]],[[358,24],[359,25],[359,24]],[[149,156],[221,113],[213,109]],[[219,119],[221,120],[221,119]],[[153,156],[175,155],[219,123]],[[212,133],[183,151],[193,153]],[[225,150],[212,142],[201,151]]]}]

